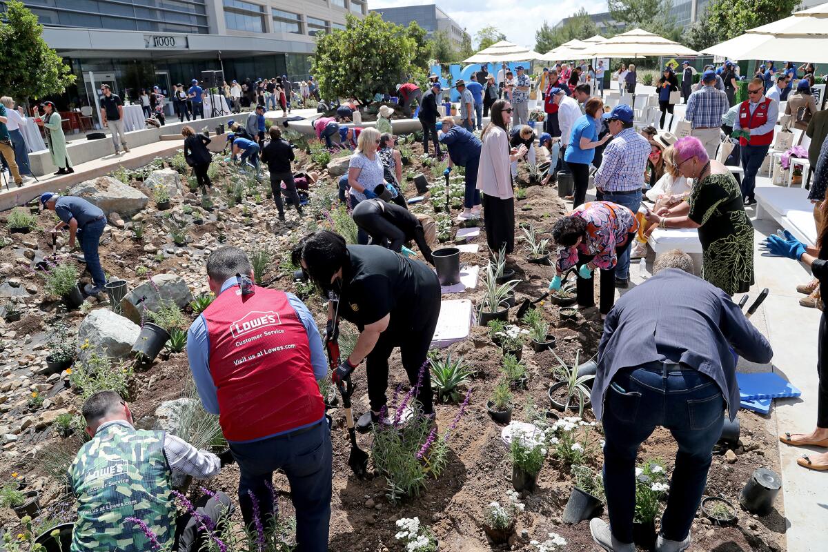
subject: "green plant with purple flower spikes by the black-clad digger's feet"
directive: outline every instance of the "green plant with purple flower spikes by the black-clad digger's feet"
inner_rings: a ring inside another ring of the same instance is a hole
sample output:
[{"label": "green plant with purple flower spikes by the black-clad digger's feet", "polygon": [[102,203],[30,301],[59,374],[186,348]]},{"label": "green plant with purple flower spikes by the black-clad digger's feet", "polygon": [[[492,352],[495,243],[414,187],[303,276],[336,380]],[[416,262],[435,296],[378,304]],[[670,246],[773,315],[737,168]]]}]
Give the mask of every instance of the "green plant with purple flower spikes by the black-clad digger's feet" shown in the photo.
[{"label": "green plant with purple flower spikes by the black-clad digger's feet", "polygon": [[[448,463],[448,437],[457,427],[469,406],[471,391],[467,391],[460,410],[448,430],[439,434],[431,416],[423,415],[416,393],[422,385],[427,362],[420,368],[417,383],[397,405],[394,393],[390,409],[383,408],[380,423],[373,425],[371,457],[386,481],[386,496],[392,503],[416,497],[426,488],[429,478],[439,478]],[[408,408],[412,416],[402,420]],[[389,417],[388,412],[393,411]]]}]

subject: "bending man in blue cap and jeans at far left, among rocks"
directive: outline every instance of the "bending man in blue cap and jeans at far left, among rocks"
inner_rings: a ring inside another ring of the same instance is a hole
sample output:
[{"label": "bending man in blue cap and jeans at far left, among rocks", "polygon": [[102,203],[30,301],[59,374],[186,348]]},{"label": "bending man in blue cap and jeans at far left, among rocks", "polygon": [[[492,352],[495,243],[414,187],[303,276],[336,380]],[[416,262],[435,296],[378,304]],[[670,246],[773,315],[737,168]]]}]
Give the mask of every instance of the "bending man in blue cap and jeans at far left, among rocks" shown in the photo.
[{"label": "bending man in blue cap and jeans at far left, among rocks", "polygon": [[41,195],[43,209],[55,211],[60,223],[57,223],[52,232],[62,228],[69,228],[69,248],[75,248],[75,238],[80,241],[80,249],[84,252],[84,261],[92,275],[94,283],[84,286],[86,295],[98,295],[103,291],[106,276],[101,267],[98,247],[100,246],[103,228],[106,228],[106,217],[97,205],[86,199],[74,195],[60,196],[52,192]]}]

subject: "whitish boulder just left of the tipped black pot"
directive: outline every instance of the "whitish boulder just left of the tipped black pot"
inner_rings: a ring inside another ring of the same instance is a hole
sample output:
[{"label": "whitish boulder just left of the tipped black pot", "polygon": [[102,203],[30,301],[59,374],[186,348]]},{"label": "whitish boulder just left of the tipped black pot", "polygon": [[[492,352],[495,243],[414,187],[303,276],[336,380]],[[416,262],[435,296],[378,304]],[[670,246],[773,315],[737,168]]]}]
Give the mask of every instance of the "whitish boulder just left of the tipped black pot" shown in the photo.
[{"label": "whitish boulder just left of the tipped black pot", "polygon": [[[130,319],[108,309],[93,310],[78,329],[79,357],[85,360],[98,353],[116,360],[128,358],[140,333],[141,328]],[[87,340],[89,347],[83,348]]]}]

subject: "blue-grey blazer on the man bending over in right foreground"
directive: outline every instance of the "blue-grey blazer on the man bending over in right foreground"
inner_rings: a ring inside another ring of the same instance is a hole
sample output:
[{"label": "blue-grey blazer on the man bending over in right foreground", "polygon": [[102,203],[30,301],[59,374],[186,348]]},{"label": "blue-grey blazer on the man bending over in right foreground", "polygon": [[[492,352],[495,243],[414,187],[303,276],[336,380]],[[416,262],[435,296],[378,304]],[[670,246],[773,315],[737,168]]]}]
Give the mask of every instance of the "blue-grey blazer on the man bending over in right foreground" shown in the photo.
[{"label": "blue-grey blazer on the man bending over in right foreground", "polygon": [[751,362],[773,358],[768,340],[723,290],[675,268],[659,272],[622,295],[607,315],[592,386],[595,417],[601,419],[605,393],[617,372],[667,360],[712,378],[733,420],[739,384],[731,347]]}]

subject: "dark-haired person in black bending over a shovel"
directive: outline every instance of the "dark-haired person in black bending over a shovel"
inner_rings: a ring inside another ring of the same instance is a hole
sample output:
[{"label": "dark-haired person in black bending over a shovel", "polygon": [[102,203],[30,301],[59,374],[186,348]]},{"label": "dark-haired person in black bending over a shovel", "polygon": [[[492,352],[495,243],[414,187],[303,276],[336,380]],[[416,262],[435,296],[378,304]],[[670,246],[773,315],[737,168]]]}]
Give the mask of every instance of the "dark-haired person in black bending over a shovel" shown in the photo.
[{"label": "dark-haired person in black bending over a shovel", "polygon": [[[387,404],[388,357],[399,347],[408,382],[416,385],[440,314],[440,281],[431,267],[373,245],[346,245],[337,233],[307,234],[293,248],[291,259],[306,276],[335,300],[328,303],[326,338],[335,339],[337,317],[356,324],[359,339],[331,378],[349,380],[366,358],[371,411],[357,422],[367,432]],[[335,308],[336,305],[336,308]],[[431,377],[423,371],[417,401],[424,415],[433,415]]]}]

